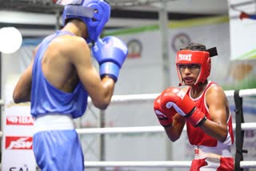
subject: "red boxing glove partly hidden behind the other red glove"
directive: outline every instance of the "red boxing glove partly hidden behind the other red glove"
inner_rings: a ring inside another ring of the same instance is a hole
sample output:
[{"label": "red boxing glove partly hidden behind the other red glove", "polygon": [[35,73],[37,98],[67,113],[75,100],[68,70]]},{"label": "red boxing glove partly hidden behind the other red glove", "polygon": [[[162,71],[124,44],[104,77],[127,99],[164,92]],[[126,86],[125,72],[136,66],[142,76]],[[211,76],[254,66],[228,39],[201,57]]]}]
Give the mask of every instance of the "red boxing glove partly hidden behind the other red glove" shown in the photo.
[{"label": "red boxing glove partly hidden behind the other red glove", "polygon": [[[162,94],[161,94],[162,95]],[[154,100],[154,113],[158,117],[159,123],[163,127],[168,127],[173,123],[173,117],[176,114],[174,108],[166,109],[161,106],[161,95]]]}]

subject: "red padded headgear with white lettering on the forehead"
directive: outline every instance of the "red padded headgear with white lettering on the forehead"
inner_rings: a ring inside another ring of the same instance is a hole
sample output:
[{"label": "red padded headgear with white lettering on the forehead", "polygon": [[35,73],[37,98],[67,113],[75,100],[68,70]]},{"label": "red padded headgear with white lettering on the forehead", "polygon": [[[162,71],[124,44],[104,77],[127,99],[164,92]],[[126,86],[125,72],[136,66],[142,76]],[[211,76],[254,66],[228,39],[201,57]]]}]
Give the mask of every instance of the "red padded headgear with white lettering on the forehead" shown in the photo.
[{"label": "red padded headgear with white lettering on the forehead", "polygon": [[178,69],[178,65],[198,64],[200,73],[194,85],[200,82],[206,82],[210,75],[210,53],[202,50],[179,50],[176,55],[176,68],[178,72],[179,85],[183,85],[182,75]]}]

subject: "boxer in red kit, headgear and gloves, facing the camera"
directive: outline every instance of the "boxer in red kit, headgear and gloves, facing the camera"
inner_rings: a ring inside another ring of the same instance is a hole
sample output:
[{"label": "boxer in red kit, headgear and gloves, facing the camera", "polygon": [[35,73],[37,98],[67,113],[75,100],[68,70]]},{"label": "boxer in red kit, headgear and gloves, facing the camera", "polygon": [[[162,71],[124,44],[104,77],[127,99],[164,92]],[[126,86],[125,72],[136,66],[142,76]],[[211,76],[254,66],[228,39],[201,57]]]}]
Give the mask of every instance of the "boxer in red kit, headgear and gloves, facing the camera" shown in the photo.
[{"label": "boxer in red kit, headgear and gloves, facing the camera", "polygon": [[226,94],[220,85],[207,78],[211,57],[217,49],[190,43],[176,56],[179,85],[169,87],[154,101],[154,112],[170,141],[181,136],[186,124],[187,135],[194,145],[190,171],[234,170],[230,146],[234,143],[232,117]]}]

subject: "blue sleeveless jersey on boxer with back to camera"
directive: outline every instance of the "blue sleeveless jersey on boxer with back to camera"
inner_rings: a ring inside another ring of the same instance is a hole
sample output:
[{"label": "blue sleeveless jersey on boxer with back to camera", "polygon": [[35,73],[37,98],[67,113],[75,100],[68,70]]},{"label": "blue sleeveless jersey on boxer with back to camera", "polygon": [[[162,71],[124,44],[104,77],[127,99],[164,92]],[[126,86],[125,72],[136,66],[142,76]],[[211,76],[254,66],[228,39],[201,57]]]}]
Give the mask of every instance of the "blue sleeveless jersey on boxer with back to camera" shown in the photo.
[{"label": "blue sleeveless jersey on boxer with back to camera", "polygon": [[[31,114],[34,117],[47,113],[71,114],[73,118],[81,117],[86,111],[88,93],[78,82],[74,92],[66,93],[51,85],[42,73],[42,58],[51,40],[58,36],[71,34],[57,31],[46,37],[39,46],[34,58],[32,70]],[[73,34],[71,34],[73,35]]]}]

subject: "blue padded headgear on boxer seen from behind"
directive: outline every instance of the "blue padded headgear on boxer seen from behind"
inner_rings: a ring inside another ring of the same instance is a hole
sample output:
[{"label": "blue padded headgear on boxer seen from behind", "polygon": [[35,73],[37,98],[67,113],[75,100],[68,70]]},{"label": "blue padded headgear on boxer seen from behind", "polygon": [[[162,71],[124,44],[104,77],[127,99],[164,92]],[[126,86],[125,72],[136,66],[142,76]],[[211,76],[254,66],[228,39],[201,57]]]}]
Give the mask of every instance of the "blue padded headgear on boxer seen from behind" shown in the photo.
[{"label": "blue padded headgear on boxer seen from behind", "polygon": [[73,0],[65,6],[62,14],[63,24],[69,18],[78,18],[86,23],[88,38],[86,42],[95,42],[110,18],[110,5],[105,0]]}]

